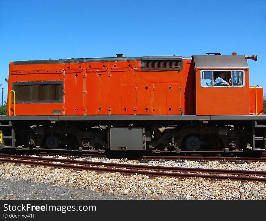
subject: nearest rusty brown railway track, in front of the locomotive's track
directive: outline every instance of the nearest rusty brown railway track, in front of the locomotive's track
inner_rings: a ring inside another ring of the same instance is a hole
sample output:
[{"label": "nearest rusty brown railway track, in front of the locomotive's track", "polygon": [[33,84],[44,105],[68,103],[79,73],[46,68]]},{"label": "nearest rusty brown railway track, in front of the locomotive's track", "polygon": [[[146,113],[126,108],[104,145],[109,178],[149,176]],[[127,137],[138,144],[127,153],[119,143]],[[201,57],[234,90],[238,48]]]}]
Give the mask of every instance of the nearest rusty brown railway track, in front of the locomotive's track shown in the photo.
[{"label": "nearest rusty brown railway track, in front of the locomotive's track", "polygon": [[73,170],[90,170],[102,172],[119,172],[123,175],[142,174],[150,178],[158,176],[166,177],[203,177],[212,180],[240,180],[240,181],[260,181],[266,182],[266,171],[248,170],[225,170],[225,169],[206,169],[206,168],[187,168],[187,167],[164,167],[148,165],[117,164],[107,162],[92,162],[0,154],[0,161],[16,164],[30,164],[33,166],[46,166],[54,168],[68,168]]}]

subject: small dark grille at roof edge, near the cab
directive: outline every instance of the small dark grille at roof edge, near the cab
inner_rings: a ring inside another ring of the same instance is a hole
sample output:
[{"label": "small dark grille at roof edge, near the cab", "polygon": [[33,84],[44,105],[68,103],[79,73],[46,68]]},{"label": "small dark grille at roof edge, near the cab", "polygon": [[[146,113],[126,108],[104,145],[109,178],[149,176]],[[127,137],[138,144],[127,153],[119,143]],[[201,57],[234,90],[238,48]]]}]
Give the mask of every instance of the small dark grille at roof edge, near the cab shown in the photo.
[{"label": "small dark grille at roof edge, near the cab", "polygon": [[180,61],[179,60],[147,60],[143,62],[142,69],[180,70]]}]

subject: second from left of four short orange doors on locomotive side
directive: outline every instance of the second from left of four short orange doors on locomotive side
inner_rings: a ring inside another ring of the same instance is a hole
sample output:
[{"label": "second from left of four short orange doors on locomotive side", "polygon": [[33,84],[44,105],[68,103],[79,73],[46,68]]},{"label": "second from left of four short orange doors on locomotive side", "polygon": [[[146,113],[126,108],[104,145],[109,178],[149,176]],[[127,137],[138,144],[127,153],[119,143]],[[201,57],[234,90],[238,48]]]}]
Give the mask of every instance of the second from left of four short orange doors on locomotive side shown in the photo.
[{"label": "second from left of four short orange doors on locomotive side", "polygon": [[137,114],[151,114],[151,91],[153,84],[136,84]]}]

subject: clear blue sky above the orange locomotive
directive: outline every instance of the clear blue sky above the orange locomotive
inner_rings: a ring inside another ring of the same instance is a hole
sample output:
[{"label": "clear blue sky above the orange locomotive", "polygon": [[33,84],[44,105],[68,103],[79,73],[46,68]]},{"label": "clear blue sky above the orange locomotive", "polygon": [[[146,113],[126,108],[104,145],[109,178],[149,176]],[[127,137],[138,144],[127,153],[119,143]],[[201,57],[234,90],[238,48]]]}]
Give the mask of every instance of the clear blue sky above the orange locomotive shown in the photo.
[{"label": "clear blue sky above the orange locomotive", "polygon": [[[266,1],[0,0],[0,83],[10,61],[146,55],[258,55],[266,93]],[[2,100],[1,102],[2,103]]]}]

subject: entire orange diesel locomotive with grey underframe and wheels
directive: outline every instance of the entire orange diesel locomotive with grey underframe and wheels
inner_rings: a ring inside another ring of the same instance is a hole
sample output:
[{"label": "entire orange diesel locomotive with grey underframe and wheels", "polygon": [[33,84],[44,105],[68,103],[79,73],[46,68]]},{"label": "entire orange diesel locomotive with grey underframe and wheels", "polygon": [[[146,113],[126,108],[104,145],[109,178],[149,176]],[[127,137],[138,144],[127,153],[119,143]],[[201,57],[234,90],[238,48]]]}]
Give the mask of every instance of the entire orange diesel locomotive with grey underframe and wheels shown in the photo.
[{"label": "entire orange diesel locomotive with grey underframe and wheels", "polygon": [[1,148],[265,150],[257,57],[214,54],[11,62]]}]

